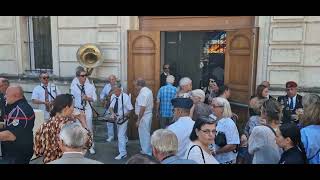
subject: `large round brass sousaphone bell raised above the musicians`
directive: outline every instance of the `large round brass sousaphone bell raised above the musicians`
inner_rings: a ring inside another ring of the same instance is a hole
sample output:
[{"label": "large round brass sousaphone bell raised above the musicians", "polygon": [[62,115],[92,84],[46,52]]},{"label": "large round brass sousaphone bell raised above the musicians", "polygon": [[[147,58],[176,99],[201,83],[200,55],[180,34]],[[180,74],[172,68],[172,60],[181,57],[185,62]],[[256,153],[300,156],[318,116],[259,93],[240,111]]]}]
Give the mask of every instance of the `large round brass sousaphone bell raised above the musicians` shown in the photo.
[{"label": "large round brass sousaphone bell raised above the musicians", "polygon": [[93,68],[99,66],[103,59],[101,50],[94,44],[84,44],[77,51],[77,59],[81,66],[86,68],[88,76]]}]

